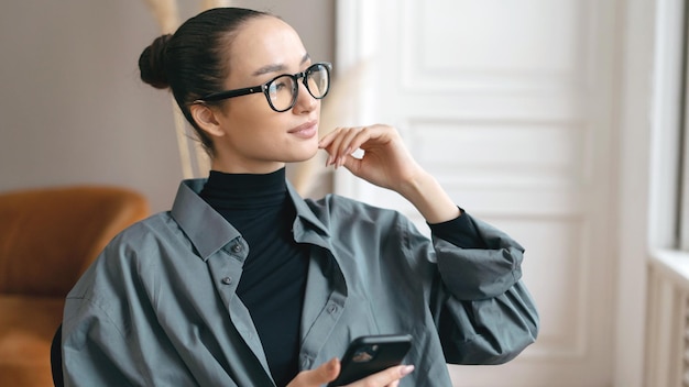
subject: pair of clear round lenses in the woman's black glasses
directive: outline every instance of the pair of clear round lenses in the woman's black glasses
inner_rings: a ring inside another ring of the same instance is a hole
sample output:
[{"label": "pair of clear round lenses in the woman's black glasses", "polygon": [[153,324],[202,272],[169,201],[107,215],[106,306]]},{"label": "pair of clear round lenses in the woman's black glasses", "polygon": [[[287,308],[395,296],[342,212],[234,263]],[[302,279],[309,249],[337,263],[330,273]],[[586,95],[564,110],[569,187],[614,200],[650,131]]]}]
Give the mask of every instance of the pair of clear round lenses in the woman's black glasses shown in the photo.
[{"label": "pair of clear round lenses in the woman's black glasses", "polygon": [[[271,104],[277,111],[284,111],[291,109],[297,97],[298,81],[296,77],[291,75],[284,75],[273,79],[267,85],[267,93],[271,99]],[[316,64],[309,67],[304,75],[306,81],[306,89],[316,99],[325,97],[328,92],[329,76],[328,69],[325,65]]]}]

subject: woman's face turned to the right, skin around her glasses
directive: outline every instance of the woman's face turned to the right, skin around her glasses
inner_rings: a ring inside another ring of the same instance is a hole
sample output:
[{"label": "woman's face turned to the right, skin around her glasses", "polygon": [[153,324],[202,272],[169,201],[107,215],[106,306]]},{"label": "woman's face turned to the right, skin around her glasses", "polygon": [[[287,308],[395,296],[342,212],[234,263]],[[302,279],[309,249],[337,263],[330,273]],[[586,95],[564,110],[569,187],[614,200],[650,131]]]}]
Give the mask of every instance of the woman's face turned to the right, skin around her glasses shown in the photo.
[{"label": "woman's face turned to the right, skin around her glasses", "polygon": [[[226,53],[229,76],[225,88],[264,84],[310,64],[302,40],[285,22],[272,16],[248,21]],[[215,137],[212,168],[227,173],[262,174],[284,163],[302,162],[318,151],[320,101],[298,82],[294,107],[276,112],[262,92],[226,100],[218,108],[222,135]]]}]

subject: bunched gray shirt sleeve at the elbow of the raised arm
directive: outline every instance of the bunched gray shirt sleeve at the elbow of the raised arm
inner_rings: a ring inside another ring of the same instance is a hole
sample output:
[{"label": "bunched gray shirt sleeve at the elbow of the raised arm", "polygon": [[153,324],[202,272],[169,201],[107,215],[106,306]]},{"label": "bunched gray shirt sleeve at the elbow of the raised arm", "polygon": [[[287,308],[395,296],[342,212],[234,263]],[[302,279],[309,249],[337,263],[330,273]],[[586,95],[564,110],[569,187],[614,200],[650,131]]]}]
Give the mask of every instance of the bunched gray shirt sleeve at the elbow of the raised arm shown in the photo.
[{"label": "bunched gray shirt sleeve at the elbow of the raised arm", "polygon": [[539,319],[522,283],[524,248],[462,210],[429,224],[437,259],[431,310],[448,363],[500,364],[534,343]]}]

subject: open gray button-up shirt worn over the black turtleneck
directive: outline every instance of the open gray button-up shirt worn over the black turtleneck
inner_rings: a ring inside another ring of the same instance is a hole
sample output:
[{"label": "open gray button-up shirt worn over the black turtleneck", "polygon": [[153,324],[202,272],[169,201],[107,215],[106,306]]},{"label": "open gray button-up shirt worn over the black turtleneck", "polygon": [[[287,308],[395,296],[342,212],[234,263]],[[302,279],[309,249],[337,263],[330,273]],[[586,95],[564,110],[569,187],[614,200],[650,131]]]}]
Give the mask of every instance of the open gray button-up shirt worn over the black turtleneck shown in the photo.
[{"label": "open gray button-up shirt worn over the black turtleneck", "polygon": [[[198,197],[204,183],[183,181],[172,211],[119,234],[69,292],[67,386],[274,386],[234,294],[250,246]],[[416,368],[401,386],[451,386],[446,362],[503,363],[536,340],[524,250],[503,232],[462,213],[488,248],[461,248],[396,211],[288,189],[294,239],[313,245],[302,369],[357,336],[409,333],[405,363]]]}]

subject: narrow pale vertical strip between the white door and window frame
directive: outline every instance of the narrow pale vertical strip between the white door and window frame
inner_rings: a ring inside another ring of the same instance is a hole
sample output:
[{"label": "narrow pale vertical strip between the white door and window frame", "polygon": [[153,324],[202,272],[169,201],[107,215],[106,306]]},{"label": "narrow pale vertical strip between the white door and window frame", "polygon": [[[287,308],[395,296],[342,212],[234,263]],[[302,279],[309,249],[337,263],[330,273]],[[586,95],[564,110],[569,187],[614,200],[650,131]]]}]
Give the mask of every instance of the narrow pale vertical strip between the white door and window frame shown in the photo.
[{"label": "narrow pale vertical strip between the white door and window frame", "polygon": [[[650,74],[655,1],[623,2],[620,88],[619,262],[614,386],[642,387],[648,184],[650,153]],[[626,300],[626,301],[625,301]],[[634,300],[630,302],[628,300]]]}]

